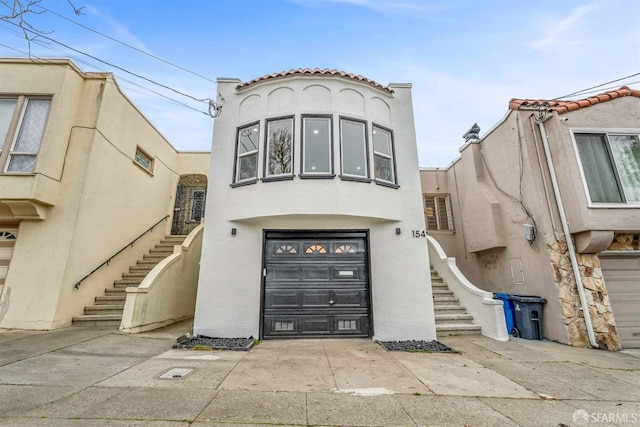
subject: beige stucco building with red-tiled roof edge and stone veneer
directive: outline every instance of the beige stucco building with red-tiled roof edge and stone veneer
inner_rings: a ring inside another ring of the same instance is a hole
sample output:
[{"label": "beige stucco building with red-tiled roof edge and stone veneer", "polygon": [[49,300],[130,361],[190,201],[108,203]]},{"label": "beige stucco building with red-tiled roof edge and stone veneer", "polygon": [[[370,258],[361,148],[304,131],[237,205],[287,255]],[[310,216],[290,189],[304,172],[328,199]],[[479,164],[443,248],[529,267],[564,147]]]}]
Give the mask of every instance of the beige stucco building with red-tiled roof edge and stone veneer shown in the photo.
[{"label": "beige stucco building with red-tiled roof edge and stone veneer", "polygon": [[546,298],[550,339],[640,347],[638,98],[513,99],[450,166],[421,171],[429,233],[479,288]]}]

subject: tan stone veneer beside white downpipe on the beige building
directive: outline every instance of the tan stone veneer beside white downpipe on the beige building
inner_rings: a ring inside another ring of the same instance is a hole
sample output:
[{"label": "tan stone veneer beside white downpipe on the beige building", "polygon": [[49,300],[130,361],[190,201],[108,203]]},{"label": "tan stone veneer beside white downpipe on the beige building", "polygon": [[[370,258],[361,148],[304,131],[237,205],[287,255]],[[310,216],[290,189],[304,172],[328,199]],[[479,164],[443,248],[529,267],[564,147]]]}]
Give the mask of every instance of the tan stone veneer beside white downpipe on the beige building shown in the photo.
[{"label": "tan stone veneer beside white downpipe on the beige building", "polygon": [[[555,273],[556,288],[570,344],[576,347],[588,347],[587,328],[571,268],[567,243],[557,241],[550,234],[545,236],[545,240],[551,258],[551,267]],[[607,288],[602,277],[600,258],[597,254],[577,254],[577,258],[596,341],[604,350],[620,350],[620,340]]]}]

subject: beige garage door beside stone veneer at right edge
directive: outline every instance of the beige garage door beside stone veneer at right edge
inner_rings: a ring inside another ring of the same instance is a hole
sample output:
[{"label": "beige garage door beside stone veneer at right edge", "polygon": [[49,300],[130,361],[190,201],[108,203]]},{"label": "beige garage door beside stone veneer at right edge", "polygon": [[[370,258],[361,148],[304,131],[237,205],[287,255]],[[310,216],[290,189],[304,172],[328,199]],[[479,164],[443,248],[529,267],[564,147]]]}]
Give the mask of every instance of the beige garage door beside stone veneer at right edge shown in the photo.
[{"label": "beige garage door beside stone veneer at right edge", "polygon": [[640,348],[640,256],[600,259],[622,348]]}]

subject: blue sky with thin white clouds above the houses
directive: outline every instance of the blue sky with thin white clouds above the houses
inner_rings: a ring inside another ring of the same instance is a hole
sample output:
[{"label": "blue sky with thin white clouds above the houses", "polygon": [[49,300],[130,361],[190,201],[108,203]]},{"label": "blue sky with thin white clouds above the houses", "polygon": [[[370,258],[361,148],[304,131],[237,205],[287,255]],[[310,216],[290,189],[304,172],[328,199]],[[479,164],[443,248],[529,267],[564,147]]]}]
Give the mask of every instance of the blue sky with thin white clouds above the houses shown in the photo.
[{"label": "blue sky with thin white clouds above the houses", "polygon": [[462,135],[474,123],[488,132],[511,98],[640,88],[640,0],[70,1],[80,14],[41,0],[25,16],[43,33],[30,47],[0,21],[0,56],[114,72],[178,150],[211,149],[213,119],[197,100],[215,99],[218,77],[318,67],[411,83],[423,167],[451,164]]}]

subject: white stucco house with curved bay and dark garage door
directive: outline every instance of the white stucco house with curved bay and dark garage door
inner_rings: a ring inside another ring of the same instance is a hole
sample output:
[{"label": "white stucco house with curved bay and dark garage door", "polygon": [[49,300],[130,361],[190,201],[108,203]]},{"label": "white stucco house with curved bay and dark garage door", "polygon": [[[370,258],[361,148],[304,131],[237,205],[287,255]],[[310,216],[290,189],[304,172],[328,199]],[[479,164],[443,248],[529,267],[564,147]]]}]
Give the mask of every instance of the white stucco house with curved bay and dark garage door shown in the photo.
[{"label": "white stucco house with curved bay and dark garage door", "polygon": [[409,84],[218,79],[194,333],[435,339]]}]

